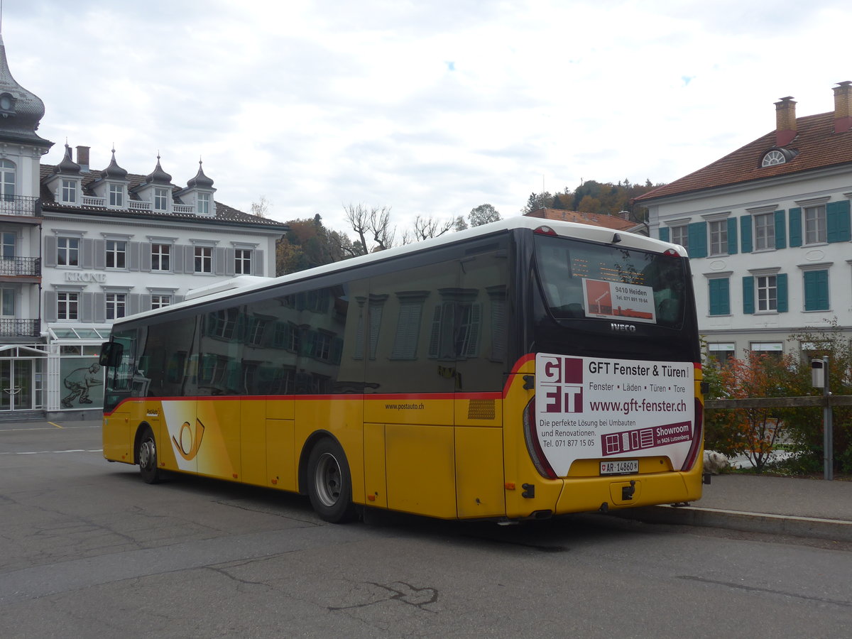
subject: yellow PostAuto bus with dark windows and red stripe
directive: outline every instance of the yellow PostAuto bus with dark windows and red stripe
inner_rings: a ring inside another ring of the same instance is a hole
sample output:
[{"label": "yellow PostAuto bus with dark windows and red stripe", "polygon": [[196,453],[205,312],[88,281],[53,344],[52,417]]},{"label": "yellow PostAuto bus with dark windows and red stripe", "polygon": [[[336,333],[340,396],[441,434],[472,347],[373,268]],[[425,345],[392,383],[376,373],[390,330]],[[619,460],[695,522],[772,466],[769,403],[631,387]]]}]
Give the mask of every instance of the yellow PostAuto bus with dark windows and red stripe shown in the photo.
[{"label": "yellow PostAuto bus with dark windows and red stripe", "polygon": [[682,247],[515,217],[118,320],[104,457],[520,521],[701,496]]}]

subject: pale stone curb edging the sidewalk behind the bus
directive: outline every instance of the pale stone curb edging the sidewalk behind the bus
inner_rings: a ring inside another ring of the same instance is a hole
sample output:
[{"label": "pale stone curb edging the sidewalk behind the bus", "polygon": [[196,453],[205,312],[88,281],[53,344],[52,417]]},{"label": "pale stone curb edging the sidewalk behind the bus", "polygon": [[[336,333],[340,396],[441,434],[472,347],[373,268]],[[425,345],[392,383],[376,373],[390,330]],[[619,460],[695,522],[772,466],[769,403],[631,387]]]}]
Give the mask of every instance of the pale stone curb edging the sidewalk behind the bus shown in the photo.
[{"label": "pale stone curb edging the sidewalk behind the bus", "polygon": [[609,515],[636,519],[653,524],[676,526],[704,526],[728,528],[745,533],[766,533],[852,541],[852,521],[820,519],[818,517],[796,517],[792,515],[769,515],[740,510],[697,508],[694,506],[645,506],[635,509],[610,510]]}]

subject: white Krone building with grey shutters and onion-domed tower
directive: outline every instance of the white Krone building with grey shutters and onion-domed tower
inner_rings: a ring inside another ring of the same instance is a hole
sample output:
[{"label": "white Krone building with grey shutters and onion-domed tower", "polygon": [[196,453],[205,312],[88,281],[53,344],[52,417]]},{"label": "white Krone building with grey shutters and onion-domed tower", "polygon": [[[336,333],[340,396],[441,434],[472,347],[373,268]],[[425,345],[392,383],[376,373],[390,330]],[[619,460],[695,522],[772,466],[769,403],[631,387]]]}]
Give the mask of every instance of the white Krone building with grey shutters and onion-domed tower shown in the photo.
[{"label": "white Krone building with grey shutters and onion-domed tower", "polygon": [[0,39],[0,419],[95,417],[112,320],[235,275],[273,276],[286,230],[216,202],[200,162],[186,187],[160,158],[128,173],[114,150],[103,170],[89,147],[41,164],[53,146],[36,133],[43,115]]}]

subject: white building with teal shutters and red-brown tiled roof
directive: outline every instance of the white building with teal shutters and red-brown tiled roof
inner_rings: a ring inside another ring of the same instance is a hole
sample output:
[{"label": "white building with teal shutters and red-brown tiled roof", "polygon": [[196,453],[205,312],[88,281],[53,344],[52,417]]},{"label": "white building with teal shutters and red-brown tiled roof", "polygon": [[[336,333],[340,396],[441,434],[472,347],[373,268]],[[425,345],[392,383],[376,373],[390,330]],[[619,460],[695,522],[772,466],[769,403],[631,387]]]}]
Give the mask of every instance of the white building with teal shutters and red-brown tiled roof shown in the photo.
[{"label": "white building with teal shutters and red-brown tiled roof", "polygon": [[774,131],[636,199],[652,237],[688,249],[717,358],[806,350],[788,337],[835,320],[852,337],[852,83],[834,102],[797,118],[781,98]]}]

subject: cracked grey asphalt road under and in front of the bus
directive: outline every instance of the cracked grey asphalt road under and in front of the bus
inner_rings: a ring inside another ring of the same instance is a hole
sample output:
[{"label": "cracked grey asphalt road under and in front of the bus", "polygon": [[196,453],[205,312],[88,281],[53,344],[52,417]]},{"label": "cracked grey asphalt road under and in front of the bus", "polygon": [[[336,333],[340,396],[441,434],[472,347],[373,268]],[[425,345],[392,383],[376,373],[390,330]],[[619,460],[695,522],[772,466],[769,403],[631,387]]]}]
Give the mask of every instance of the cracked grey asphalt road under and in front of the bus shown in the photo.
[{"label": "cracked grey asphalt road under and in front of the bus", "polygon": [[[58,425],[62,425],[61,423]],[[100,428],[0,424],[0,636],[840,637],[852,547],[602,515],[371,513],[220,481],[158,486]]]}]

